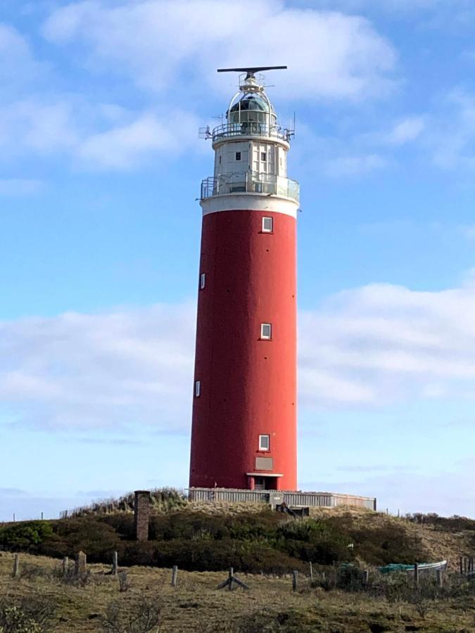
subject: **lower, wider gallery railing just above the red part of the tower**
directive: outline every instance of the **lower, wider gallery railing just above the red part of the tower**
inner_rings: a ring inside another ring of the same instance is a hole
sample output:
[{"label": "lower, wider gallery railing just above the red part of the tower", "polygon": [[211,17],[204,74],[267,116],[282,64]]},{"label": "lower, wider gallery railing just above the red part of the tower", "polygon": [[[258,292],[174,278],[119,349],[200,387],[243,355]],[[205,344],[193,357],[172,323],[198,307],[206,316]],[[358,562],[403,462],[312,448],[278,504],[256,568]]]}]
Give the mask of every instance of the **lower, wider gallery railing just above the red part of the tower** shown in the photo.
[{"label": "lower, wider gallery railing just above the red part of the tower", "polygon": [[226,193],[264,193],[267,196],[300,200],[300,186],[296,180],[282,176],[270,176],[258,172],[246,174],[227,174],[205,178],[201,182],[201,199],[223,196]]}]

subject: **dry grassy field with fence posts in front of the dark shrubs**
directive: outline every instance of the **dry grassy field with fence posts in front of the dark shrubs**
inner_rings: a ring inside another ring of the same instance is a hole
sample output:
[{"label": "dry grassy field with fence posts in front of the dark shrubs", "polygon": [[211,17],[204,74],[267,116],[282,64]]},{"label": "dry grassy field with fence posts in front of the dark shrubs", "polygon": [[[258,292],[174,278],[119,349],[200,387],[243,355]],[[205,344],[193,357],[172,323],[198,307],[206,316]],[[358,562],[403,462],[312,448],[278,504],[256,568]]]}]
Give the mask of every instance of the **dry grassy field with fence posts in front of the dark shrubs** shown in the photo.
[{"label": "dry grassy field with fence posts in front of the dark shrubs", "polygon": [[[13,555],[0,556],[1,633],[203,633],[313,632],[464,633],[473,630],[475,583],[448,575],[421,579],[357,565],[314,568],[314,578],[245,577],[249,589],[217,591],[225,574],[134,567],[127,592],[103,565],[90,565],[84,582],[72,583],[51,558],[21,554],[29,573],[13,578]],[[35,573],[32,573],[36,570]],[[324,572],[324,573],[323,573]],[[363,581],[363,578],[365,580]]]}]

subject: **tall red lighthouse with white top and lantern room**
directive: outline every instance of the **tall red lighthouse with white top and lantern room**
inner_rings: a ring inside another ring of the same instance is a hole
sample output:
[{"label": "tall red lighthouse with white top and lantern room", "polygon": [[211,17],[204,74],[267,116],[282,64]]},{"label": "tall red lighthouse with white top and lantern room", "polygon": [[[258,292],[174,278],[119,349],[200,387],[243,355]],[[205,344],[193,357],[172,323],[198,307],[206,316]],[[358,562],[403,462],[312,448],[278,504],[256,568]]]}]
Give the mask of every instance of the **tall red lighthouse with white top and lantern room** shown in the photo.
[{"label": "tall red lighthouse with white top and lantern room", "polygon": [[270,68],[232,70],[246,75],[208,132],[215,172],[201,186],[190,487],[295,490],[293,132],[256,79]]}]

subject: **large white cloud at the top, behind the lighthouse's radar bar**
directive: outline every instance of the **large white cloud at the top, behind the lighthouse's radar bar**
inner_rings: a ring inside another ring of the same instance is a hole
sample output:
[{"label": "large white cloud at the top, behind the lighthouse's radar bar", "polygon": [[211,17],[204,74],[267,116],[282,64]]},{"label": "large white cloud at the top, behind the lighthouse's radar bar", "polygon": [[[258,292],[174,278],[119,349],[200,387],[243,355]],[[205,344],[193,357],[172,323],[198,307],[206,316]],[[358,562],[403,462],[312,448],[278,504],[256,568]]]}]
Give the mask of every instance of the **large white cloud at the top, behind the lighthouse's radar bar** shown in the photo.
[{"label": "large white cloud at the top, behind the lighthouse's radar bar", "polygon": [[263,63],[289,65],[279,77],[281,98],[381,94],[395,65],[393,47],[368,20],[275,0],[87,0],[54,11],[44,34],[57,44],[79,42],[95,70],[126,72],[170,99],[177,75],[191,94],[223,89],[215,69],[255,65],[256,51]]}]

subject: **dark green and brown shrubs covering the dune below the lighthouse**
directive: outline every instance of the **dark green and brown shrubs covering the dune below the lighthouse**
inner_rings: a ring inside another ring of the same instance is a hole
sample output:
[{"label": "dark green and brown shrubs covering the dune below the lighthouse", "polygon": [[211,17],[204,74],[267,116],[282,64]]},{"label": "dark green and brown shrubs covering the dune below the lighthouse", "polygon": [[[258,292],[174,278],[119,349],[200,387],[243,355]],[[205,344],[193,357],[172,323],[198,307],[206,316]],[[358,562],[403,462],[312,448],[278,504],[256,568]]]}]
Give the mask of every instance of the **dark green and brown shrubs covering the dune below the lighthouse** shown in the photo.
[{"label": "dark green and brown shrubs covering the dune below the lighthouse", "polygon": [[391,518],[367,523],[351,513],[296,520],[270,510],[212,515],[177,509],[150,520],[150,539],[136,542],[131,513],[95,514],[57,521],[32,521],[0,528],[10,551],[74,556],[109,562],[118,551],[123,565],[179,565],[186,570],[222,570],[234,565],[249,573],[287,573],[308,561],[329,565],[414,563],[430,558],[405,524]]}]

